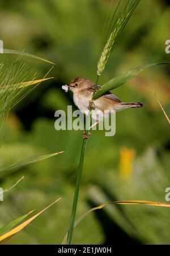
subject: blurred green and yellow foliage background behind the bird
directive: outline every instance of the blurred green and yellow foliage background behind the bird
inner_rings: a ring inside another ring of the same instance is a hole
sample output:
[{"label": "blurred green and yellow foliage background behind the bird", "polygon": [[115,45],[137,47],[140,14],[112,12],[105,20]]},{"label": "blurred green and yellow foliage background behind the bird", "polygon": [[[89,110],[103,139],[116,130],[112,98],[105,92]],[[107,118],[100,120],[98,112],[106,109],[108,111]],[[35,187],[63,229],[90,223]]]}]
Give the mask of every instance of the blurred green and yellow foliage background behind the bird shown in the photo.
[{"label": "blurred green and yellow foliage background behind the bird", "polygon": [[[113,1],[114,2],[114,1]],[[61,85],[81,75],[95,80],[108,0],[1,1],[0,35],[6,49],[36,54],[56,65],[49,77],[16,106],[7,120],[1,165],[58,151],[65,153],[1,176],[0,186],[24,181],[0,204],[0,226],[62,197],[8,244],[60,244],[69,226],[82,131],[56,131],[54,112],[67,110],[73,95]],[[169,61],[170,4],[143,0],[126,26],[100,84],[134,66]],[[9,56],[6,56],[8,58]],[[3,56],[3,58],[5,58]],[[16,56],[10,56],[16,58]],[[43,77],[49,64],[24,58]],[[30,63],[29,63],[30,61]],[[170,187],[169,65],[151,68],[114,94],[145,108],[116,115],[116,136],[92,132],[88,141],[77,216],[113,200],[165,202]],[[170,244],[169,209],[109,205],[88,215],[75,229],[74,244]]]}]

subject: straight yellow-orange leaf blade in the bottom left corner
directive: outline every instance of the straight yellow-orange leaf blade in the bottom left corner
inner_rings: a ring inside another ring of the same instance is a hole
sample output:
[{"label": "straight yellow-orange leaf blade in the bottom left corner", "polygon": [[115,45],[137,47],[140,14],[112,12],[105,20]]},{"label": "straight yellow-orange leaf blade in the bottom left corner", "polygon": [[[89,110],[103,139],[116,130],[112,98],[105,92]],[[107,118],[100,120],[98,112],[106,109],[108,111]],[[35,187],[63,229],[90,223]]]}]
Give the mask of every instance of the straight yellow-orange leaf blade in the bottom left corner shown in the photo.
[{"label": "straight yellow-orange leaf blade in the bottom left corner", "polygon": [[10,230],[9,232],[3,234],[2,236],[0,236],[0,244],[5,244],[6,241],[8,241],[12,236],[14,236],[15,234],[17,234],[18,232],[20,232],[20,230],[22,230],[23,228],[25,228],[25,226],[27,226],[29,223],[31,223],[31,221],[33,221],[34,219],[36,219],[36,217],[38,217],[39,215],[41,215],[42,212],[46,211],[46,209],[48,209],[49,207],[51,207],[53,204],[57,203],[61,198],[57,199],[55,202],[53,202],[52,204],[50,204],[48,207],[46,207],[45,209],[43,209],[42,211],[40,211],[39,213],[37,213],[36,215],[32,216],[31,218],[29,218],[28,220],[24,221],[24,223],[16,226],[16,228]]}]

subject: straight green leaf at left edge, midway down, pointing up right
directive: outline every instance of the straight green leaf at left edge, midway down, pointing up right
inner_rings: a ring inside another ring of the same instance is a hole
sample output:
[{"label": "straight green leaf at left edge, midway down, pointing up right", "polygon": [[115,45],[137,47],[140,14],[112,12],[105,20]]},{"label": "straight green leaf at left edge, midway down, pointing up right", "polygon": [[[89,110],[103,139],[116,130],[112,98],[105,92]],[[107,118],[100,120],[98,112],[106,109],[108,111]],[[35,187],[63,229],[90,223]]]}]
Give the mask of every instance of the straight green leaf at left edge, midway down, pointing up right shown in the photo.
[{"label": "straight green leaf at left edge, midway down, pointing up right", "polygon": [[14,169],[21,169],[21,168],[23,168],[27,165],[30,165],[31,163],[39,162],[39,161],[45,160],[47,158],[54,157],[57,154],[61,154],[61,153],[63,153],[63,151],[53,153],[53,154],[46,154],[45,156],[35,157],[35,158],[30,159],[30,160],[26,160],[26,161],[23,161],[23,162],[16,163],[15,165],[11,165],[11,166],[8,166],[4,169],[0,169],[0,174],[8,173],[9,171],[13,171]]}]

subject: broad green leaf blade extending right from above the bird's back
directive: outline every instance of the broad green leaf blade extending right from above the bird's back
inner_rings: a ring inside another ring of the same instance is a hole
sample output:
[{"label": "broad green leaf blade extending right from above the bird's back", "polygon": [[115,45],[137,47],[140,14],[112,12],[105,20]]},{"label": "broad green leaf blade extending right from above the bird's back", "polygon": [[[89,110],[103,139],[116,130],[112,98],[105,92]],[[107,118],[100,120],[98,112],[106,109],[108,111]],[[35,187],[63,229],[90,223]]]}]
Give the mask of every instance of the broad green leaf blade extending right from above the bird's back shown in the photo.
[{"label": "broad green leaf blade extending right from above the bird's back", "polygon": [[133,69],[129,69],[128,71],[122,73],[121,75],[118,75],[118,77],[114,77],[109,82],[101,86],[101,89],[95,93],[94,99],[99,98],[104,93],[107,93],[107,91],[114,90],[120,87],[121,85],[124,85],[125,82],[129,81],[131,78],[135,77],[136,75],[141,73],[143,70],[150,68],[151,66],[168,64],[168,63],[169,62],[146,64],[142,66],[137,66],[136,68],[133,68]]}]

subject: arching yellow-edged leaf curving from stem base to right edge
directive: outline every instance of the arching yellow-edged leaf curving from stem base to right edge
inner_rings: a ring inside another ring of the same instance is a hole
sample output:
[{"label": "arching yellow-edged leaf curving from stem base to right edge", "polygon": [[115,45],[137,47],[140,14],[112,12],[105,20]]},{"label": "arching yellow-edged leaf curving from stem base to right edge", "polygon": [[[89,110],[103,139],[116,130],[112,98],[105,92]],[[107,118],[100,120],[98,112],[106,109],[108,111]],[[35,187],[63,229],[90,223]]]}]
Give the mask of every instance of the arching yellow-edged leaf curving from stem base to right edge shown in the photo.
[{"label": "arching yellow-edged leaf curving from stem base to right edge", "polygon": [[[170,204],[166,203],[159,203],[159,202],[153,202],[153,201],[145,201],[145,200],[124,200],[124,201],[116,201],[116,202],[109,202],[106,204],[101,204],[97,207],[94,207],[90,209],[88,212],[84,213],[82,216],[79,217],[78,220],[75,221],[74,228],[86,217],[89,213],[96,211],[97,209],[102,209],[105,206],[109,204],[122,204],[122,205],[151,205],[151,206],[157,206],[157,207],[170,207]],[[63,238],[62,244],[66,244],[67,234],[65,238]]]}]

